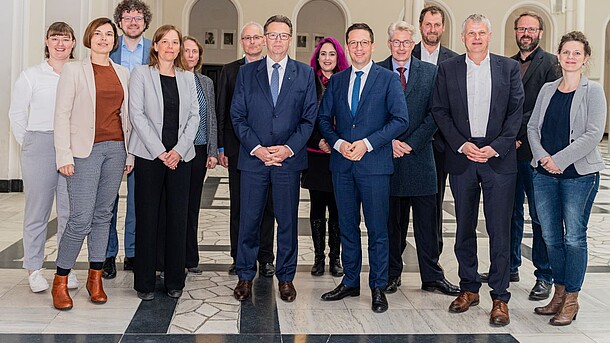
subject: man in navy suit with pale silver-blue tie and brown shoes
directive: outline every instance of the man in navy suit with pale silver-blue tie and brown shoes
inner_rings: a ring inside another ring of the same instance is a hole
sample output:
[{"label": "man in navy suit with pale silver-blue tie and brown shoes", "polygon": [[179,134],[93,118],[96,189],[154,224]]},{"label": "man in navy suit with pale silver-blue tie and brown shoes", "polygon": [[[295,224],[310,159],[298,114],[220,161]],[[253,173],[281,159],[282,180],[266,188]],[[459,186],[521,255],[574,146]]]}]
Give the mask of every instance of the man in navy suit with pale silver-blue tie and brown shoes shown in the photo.
[{"label": "man in navy suit with pale silver-blue tie and brown shoes", "polygon": [[[288,58],[292,23],[275,15],[264,25],[267,57],[241,67],[231,119],[240,141],[241,205],[237,249],[237,300],[252,293],[260,225],[271,188],[278,223],[275,275],[282,300],[296,298],[299,177],[307,168],[305,144],[316,120],[311,67]],[[271,186],[271,187],[270,187]]]}]

